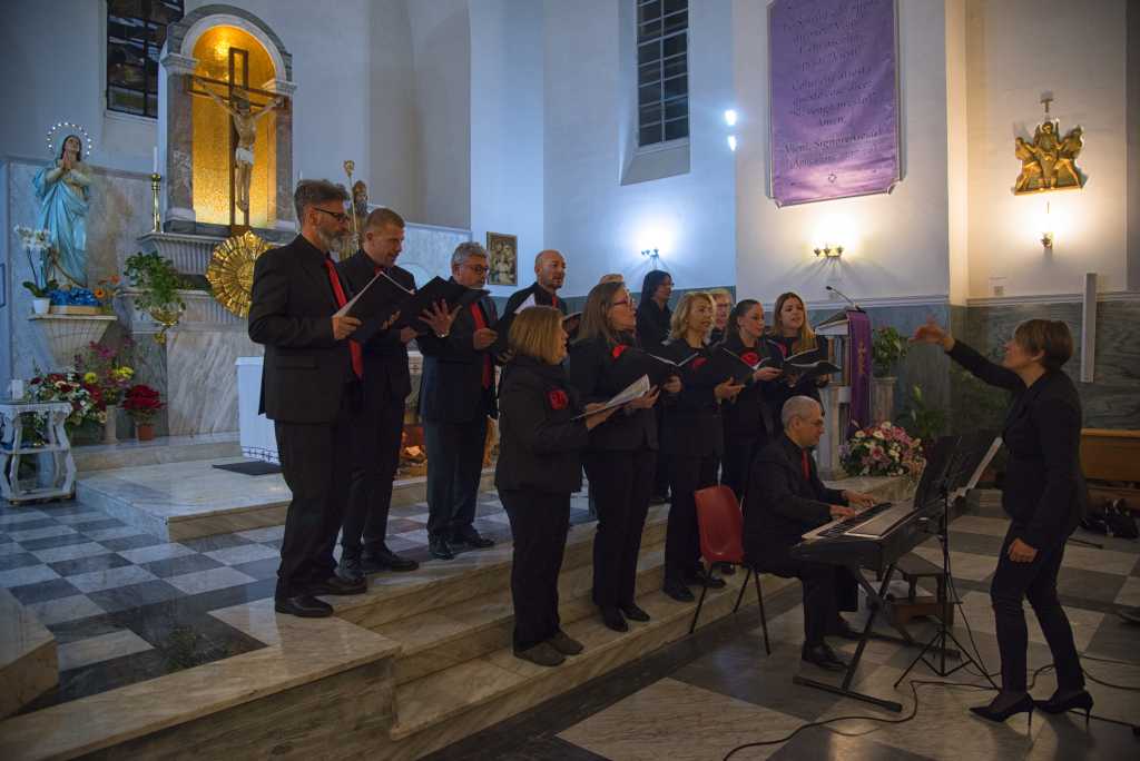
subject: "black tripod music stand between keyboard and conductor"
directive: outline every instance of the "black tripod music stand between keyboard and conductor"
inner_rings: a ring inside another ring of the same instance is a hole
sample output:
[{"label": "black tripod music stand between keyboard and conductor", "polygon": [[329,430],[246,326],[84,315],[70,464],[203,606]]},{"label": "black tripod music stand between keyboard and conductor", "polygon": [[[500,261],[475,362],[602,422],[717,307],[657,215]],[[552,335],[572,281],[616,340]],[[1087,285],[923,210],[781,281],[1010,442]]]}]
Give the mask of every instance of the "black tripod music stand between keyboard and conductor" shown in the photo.
[{"label": "black tripod music stand between keyboard and conductor", "polygon": [[[938,541],[942,543],[942,572],[945,578],[951,583],[946,584],[946,590],[950,592],[954,589],[952,583],[952,576],[950,573],[950,506],[959,496],[956,492],[964,491],[966,489],[972,488],[982,475],[982,470],[990,465],[990,460],[1001,448],[1001,439],[997,439],[992,431],[977,431],[962,436],[958,441],[958,447],[953,453],[948,466],[942,474],[940,483],[937,486],[937,499],[942,501],[942,516],[938,522]],[[911,664],[906,666],[903,673],[895,681],[895,687],[898,687],[899,682],[906,678],[906,674],[918,665],[919,661],[925,663],[927,668],[930,669],[935,674],[945,679],[950,674],[964,669],[969,664],[974,664],[978,671],[980,671],[991,685],[996,689],[997,685],[994,682],[990,673],[982,668],[982,665],[970,655],[958,638],[954,637],[953,631],[951,631],[950,624],[947,623],[950,619],[950,606],[961,605],[961,600],[958,599],[958,594],[954,592],[953,600],[944,600],[942,615],[938,616],[938,629],[935,631],[934,637],[931,637],[927,644],[922,647]],[[962,613],[961,615],[964,615]],[[953,668],[946,668],[946,640],[952,641],[958,646],[958,657],[960,663]],[[927,653],[930,648],[937,648],[940,650],[940,657],[938,663],[931,663],[927,660]]]}]

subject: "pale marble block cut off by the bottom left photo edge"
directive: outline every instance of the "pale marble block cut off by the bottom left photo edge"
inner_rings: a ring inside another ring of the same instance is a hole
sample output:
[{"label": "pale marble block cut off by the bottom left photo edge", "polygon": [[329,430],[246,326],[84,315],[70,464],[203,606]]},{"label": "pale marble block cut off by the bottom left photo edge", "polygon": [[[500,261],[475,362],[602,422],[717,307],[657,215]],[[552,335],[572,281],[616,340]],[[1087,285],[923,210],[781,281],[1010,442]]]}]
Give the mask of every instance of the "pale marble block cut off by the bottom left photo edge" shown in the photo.
[{"label": "pale marble block cut off by the bottom left photo edge", "polygon": [[58,681],[56,638],[11,592],[0,589],[0,719]]}]

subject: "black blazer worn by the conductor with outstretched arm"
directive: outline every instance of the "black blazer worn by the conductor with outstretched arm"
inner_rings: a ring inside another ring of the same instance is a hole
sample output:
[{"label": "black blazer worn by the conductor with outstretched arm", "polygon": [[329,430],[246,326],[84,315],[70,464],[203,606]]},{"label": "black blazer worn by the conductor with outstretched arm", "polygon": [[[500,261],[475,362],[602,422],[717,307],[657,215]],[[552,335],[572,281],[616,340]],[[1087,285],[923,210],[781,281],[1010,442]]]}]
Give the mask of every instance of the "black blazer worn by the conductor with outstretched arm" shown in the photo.
[{"label": "black blazer worn by the conductor with outstretched arm", "polygon": [[1009,450],[1001,506],[1013,519],[1015,535],[1035,549],[1064,542],[1089,506],[1081,470],[1081,398],[1073,380],[1049,370],[1026,388],[1016,373],[961,341],[950,355],[979,379],[1013,393],[1001,434]]}]

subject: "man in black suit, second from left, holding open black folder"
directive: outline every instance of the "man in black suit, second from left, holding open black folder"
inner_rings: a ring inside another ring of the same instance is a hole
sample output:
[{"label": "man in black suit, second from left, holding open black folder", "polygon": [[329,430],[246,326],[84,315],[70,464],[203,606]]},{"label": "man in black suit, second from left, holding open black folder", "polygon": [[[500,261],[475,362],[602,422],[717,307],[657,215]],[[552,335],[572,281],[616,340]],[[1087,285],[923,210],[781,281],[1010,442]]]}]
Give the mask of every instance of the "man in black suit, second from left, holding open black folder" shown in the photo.
[{"label": "man in black suit, second from left, holding open black folder", "polygon": [[[381,271],[415,291],[412,273],[396,265],[404,247],[404,219],[390,208],[377,208],[368,215],[361,230],[360,251],[336,265],[352,293],[359,293]],[[446,334],[450,327],[446,310],[437,309],[425,317],[438,334]],[[385,330],[375,320],[366,320],[355,336],[364,354],[364,410],[355,427],[356,461],[341,530],[337,573],[347,579],[420,567],[384,542],[392,480],[400,459],[405,399],[412,393],[407,344],[415,336],[415,328]]]}]

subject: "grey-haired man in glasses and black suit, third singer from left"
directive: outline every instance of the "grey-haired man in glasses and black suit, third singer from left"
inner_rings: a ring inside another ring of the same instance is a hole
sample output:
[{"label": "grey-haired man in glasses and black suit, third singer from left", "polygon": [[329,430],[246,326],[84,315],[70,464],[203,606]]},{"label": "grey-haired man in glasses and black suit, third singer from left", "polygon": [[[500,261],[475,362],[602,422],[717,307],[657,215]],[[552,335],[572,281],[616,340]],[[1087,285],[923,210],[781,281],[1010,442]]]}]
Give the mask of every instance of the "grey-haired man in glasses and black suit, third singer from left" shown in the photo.
[{"label": "grey-haired man in glasses and black suit, third singer from left", "polygon": [[[487,281],[487,249],[462,243],[451,254],[451,279],[469,288]],[[475,531],[475,498],[483,466],[487,418],[497,417],[494,344],[497,314],[483,297],[462,309],[449,333],[417,343],[424,355],[420,417],[427,448],[427,540],[433,557],[450,560],[453,545],[494,542]]]}]

